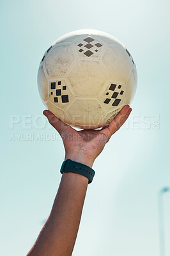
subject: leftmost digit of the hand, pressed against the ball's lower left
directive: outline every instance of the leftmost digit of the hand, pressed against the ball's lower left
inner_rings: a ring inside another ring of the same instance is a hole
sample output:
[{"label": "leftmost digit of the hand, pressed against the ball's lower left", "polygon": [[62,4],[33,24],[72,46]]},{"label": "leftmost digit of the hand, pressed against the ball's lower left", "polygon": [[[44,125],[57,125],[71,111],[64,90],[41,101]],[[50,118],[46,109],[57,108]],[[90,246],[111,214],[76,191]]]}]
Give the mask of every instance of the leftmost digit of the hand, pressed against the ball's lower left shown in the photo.
[{"label": "leftmost digit of the hand, pressed against the ball's lower left", "polygon": [[43,111],[43,115],[47,117],[47,119],[49,120],[49,123],[59,132],[61,136],[63,132],[65,132],[66,130],[72,129],[72,127],[63,123],[56,116],[54,116],[49,110]]}]

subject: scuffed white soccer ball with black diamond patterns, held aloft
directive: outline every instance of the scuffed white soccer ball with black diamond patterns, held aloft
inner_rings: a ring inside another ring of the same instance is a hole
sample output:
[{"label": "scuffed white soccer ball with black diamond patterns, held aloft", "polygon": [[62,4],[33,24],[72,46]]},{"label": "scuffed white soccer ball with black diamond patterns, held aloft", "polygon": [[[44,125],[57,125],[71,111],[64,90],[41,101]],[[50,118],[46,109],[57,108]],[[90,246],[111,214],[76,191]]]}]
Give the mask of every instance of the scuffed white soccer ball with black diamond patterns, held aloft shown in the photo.
[{"label": "scuffed white soccer ball with black diamond patterns, held aloft", "polygon": [[45,52],[38,89],[45,106],[81,129],[109,125],[137,86],[134,60],[113,36],[82,29],[61,36]]}]

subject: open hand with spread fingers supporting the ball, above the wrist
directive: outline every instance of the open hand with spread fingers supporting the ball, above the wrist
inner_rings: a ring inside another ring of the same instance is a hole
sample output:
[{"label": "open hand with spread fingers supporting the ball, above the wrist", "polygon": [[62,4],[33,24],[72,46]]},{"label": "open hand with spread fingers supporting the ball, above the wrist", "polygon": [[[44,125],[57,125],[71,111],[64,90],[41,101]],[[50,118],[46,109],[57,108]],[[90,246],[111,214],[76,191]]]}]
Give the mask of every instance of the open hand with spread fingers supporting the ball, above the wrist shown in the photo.
[{"label": "open hand with spread fingers supporting the ball, above the wrist", "polygon": [[120,113],[112,120],[108,127],[101,130],[81,130],[76,131],[71,126],[61,122],[50,111],[44,111],[44,115],[49,119],[50,124],[59,132],[66,152],[74,151],[81,154],[89,154],[92,158],[96,158],[102,152],[105,144],[111,138],[114,132],[120,129],[121,125],[127,120],[130,115],[131,108],[123,107]]}]

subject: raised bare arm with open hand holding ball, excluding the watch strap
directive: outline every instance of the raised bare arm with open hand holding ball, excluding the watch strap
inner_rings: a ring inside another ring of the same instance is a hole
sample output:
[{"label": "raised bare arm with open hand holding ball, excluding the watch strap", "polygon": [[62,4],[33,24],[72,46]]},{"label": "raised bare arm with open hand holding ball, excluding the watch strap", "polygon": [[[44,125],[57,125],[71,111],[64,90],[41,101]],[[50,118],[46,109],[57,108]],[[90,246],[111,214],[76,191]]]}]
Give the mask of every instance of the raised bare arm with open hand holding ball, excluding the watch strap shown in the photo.
[{"label": "raised bare arm with open hand holding ball, excluding the watch strap", "polygon": [[[132,109],[125,106],[102,130],[75,131],[50,111],[44,111],[50,124],[59,132],[65,146],[65,159],[71,159],[89,167],[102,152],[112,134],[127,120]],[[63,173],[52,211],[27,256],[70,256],[81,221],[82,207],[88,179],[77,173]]]}]

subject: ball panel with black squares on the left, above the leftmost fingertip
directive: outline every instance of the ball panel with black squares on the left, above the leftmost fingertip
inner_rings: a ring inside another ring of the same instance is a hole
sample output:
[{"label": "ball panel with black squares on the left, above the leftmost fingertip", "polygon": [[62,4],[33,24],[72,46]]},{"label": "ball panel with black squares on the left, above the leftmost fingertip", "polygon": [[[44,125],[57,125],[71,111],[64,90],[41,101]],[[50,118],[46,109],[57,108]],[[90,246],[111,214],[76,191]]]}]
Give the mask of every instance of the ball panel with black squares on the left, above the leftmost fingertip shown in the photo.
[{"label": "ball panel with black squares on the left, above the leftmost fingertip", "polygon": [[49,82],[49,100],[59,108],[67,108],[73,97],[65,79],[54,79]]}]

